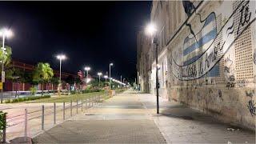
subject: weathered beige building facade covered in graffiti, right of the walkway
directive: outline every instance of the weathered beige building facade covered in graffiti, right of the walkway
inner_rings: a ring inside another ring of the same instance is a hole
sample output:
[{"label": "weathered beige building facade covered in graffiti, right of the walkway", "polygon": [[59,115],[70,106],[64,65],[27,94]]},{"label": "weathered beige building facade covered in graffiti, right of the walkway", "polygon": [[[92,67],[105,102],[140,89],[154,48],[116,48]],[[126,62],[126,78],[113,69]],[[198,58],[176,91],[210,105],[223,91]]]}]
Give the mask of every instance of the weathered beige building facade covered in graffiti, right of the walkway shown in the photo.
[{"label": "weathered beige building facade covered in graffiti, right of the walkway", "polygon": [[155,46],[138,33],[142,90],[182,102],[223,122],[255,129],[255,1],[153,1]]}]

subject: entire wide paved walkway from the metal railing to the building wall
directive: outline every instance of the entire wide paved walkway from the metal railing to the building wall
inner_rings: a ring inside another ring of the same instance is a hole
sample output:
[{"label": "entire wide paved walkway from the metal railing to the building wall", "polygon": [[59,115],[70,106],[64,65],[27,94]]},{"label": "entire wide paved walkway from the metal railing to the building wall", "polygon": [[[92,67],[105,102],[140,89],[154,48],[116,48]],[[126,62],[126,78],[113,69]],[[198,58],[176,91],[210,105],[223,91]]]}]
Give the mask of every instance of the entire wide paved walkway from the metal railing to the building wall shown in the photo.
[{"label": "entire wide paved walkway from the metal railing to the building wall", "polygon": [[175,102],[126,91],[34,138],[35,143],[255,143],[254,133]]}]

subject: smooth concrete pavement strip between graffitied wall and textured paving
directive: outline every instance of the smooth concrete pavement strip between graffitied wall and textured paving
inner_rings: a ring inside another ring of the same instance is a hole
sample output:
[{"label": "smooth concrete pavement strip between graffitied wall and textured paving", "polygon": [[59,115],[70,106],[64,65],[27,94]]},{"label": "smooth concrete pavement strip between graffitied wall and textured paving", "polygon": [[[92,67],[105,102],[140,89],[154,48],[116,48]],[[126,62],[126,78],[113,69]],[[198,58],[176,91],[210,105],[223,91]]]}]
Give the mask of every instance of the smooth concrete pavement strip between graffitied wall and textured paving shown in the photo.
[{"label": "smooth concrete pavement strip between graffitied wall and textured paving", "polygon": [[153,94],[137,95],[168,143],[255,143],[253,131],[218,122],[178,102],[159,98],[160,114],[156,114],[156,97]]}]

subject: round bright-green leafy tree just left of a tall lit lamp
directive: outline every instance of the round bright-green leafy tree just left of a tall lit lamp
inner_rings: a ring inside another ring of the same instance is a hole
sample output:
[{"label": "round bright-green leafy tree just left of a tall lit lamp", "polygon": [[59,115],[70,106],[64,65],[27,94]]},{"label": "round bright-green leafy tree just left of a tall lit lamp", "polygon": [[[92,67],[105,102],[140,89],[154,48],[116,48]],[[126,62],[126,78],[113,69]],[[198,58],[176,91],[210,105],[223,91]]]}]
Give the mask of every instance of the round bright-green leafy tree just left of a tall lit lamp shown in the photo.
[{"label": "round bright-green leafy tree just left of a tall lit lamp", "polygon": [[[50,68],[49,63],[39,62],[36,68],[34,69],[33,81],[41,84],[42,95],[43,95],[42,85],[44,83],[50,82],[50,79],[53,78],[53,76],[54,76],[54,70]],[[46,89],[48,90],[48,86],[46,86]]]}]

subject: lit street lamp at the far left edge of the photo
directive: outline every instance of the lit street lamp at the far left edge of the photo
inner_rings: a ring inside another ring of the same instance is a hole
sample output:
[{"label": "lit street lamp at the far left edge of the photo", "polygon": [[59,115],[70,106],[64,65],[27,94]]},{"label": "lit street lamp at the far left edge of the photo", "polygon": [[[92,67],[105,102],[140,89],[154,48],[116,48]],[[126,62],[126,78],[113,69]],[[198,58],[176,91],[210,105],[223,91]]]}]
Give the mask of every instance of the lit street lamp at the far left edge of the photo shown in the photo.
[{"label": "lit street lamp at the far left edge of the photo", "polygon": [[[5,38],[10,38],[13,35],[13,33],[11,30],[3,28],[2,30],[0,30],[0,35],[2,36],[2,48],[1,48],[2,54],[6,55]],[[5,82],[4,75],[5,75],[4,58],[2,58],[2,85],[3,85],[3,82]],[[3,97],[3,87],[1,89],[1,103],[2,103],[2,97]]]}]

